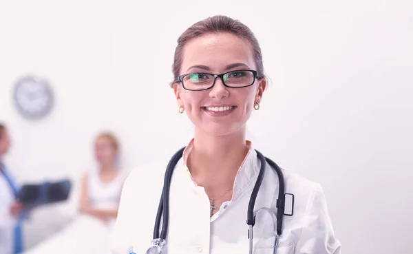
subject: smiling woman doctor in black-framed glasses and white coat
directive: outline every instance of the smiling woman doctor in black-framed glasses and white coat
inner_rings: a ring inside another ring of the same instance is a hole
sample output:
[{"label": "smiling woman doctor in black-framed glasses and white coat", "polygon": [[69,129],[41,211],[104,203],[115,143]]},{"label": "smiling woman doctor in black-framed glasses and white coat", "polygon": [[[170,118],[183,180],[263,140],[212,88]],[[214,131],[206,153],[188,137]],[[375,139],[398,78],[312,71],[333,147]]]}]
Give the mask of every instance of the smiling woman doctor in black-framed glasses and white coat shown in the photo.
[{"label": "smiling woman doctor in black-framed glasses and white coat", "polygon": [[[186,112],[195,134],[171,178],[164,253],[247,254],[246,211],[260,160],[246,140],[246,122],[266,89],[260,45],[240,21],[205,19],[179,37],[173,75],[178,112]],[[113,253],[140,254],[151,247],[166,166],[139,167],[125,181]],[[339,254],[320,184],[282,173],[295,201],[293,216],[284,216],[277,254]],[[277,173],[267,164],[255,209],[277,211],[278,187]],[[273,253],[273,226],[268,213],[257,213],[253,253]]]}]

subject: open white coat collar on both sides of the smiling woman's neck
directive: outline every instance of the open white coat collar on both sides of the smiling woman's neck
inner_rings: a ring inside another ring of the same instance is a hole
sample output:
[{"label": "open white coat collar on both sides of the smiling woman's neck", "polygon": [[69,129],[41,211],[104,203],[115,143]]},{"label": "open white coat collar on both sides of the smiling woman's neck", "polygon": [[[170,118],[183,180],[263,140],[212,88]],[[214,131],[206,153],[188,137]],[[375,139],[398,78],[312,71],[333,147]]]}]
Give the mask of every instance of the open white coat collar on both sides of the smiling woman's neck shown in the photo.
[{"label": "open white coat collar on both sides of the smiling woman's neck", "polygon": [[[231,202],[237,200],[244,190],[250,186],[253,182],[255,182],[255,178],[257,177],[257,173],[260,171],[260,165],[257,159],[257,152],[255,149],[253,149],[252,142],[247,140],[247,145],[249,148],[248,153],[246,154],[244,161],[240,165],[240,168],[237,171],[237,175],[235,176],[235,182],[234,182],[234,187],[233,187],[233,196],[231,198]],[[196,187],[197,184],[195,180],[193,180],[193,177],[191,176],[191,172],[189,171],[187,167],[187,158],[189,154],[191,154],[193,148],[193,139],[189,142],[187,147],[184,149],[184,153],[182,156],[182,163],[183,163],[183,168],[185,171],[187,171],[187,176],[189,177],[189,180],[191,181],[191,184],[193,187]]]}]

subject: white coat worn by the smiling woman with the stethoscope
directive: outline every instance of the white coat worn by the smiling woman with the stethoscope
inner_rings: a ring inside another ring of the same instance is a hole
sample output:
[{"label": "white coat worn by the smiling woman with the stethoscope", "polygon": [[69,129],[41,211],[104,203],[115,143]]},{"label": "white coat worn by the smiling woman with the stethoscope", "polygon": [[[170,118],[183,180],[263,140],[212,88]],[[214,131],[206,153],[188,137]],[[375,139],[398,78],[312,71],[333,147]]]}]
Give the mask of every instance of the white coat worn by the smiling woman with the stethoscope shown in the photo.
[{"label": "white coat worn by the smiling woman with the stethoscope", "polygon": [[[114,254],[130,250],[145,253],[151,246],[166,165],[162,162],[137,168],[125,181],[112,232]],[[255,150],[250,149],[235,179],[233,200],[224,202],[210,218],[209,198],[204,188],[191,180],[181,159],[171,181],[167,253],[248,254],[246,211],[259,171],[260,160]],[[288,170],[283,169],[283,173],[286,193],[295,195],[295,206],[293,216],[284,216],[277,254],[341,253],[320,184]],[[277,173],[267,164],[255,209],[270,207],[277,211],[277,179]],[[271,218],[266,212],[258,213],[254,253],[273,253],[274,239]]]}]

